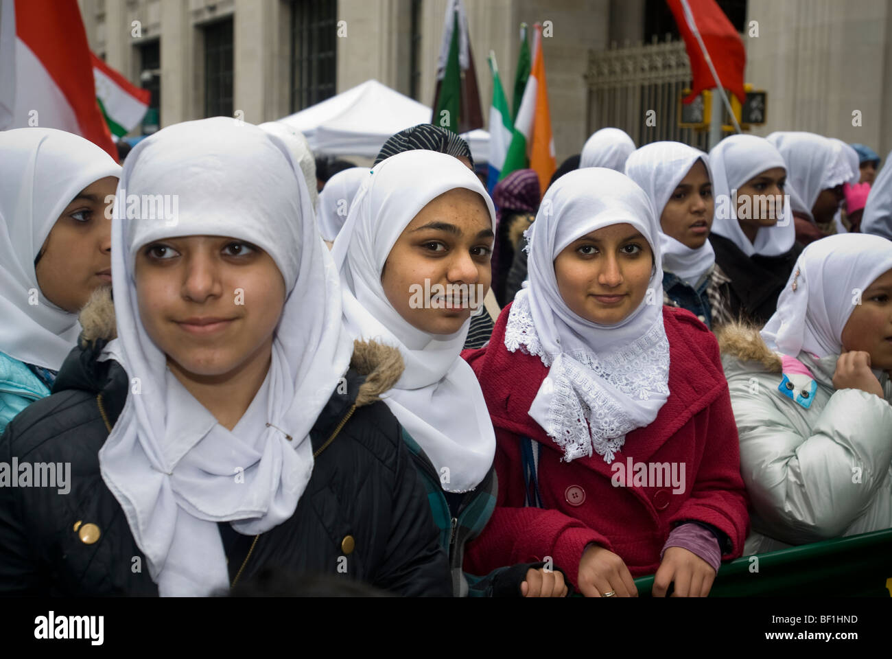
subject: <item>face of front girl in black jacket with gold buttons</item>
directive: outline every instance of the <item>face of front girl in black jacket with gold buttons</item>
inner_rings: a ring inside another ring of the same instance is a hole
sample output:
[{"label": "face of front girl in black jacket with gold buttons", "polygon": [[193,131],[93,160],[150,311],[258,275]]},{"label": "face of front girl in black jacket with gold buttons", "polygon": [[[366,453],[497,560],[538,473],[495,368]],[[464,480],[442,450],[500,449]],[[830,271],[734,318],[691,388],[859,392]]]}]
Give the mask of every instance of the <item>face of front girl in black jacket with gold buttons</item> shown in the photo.
[{"label": "face of front girl in black jacket with gold buttons", "polygon": [[136,298],[146,333],[171,371],[228,380],[268,361],[285,281],[260,247],[236,238],[165,238],[139,248]]}]

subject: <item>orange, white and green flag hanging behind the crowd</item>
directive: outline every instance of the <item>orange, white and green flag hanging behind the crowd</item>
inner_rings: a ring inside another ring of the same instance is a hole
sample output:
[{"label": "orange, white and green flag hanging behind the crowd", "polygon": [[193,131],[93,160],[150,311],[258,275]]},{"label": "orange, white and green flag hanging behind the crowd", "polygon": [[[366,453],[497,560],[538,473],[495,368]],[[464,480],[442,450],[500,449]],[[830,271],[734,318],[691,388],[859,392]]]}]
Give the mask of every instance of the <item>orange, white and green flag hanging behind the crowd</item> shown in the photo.
[{"label": "orange, white and green flag hanging behind the crowd", "polygon": [[[529,163],[529,165],[527,165]],[[551,138],[549,89],[545,82],[545,61],[542,58],[542,28],[533,29],[533,69],[526,80],[524,97],[514,121],[511,146],[502,165],[500,180],[512,171],[529,166],[539,175],[542,194],[549,187],[551,175],[558,169],[555,143]]]}]

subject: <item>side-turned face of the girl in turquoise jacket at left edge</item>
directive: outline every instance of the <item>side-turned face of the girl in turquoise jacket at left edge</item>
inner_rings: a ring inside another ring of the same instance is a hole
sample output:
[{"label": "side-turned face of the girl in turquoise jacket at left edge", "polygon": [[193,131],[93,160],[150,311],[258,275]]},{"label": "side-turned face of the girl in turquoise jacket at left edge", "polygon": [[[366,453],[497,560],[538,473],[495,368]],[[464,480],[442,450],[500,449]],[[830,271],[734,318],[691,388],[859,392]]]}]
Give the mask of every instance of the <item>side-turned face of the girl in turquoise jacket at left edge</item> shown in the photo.
[{"label": "side-turned face of the girl in turquoise jacket at left edge", "polygon": [[117,185],[108,176],[78,192],[40,248],[37,285],[69,313],[78,313],[96,288],[111,286],[111,201],[105,200],[113,199]]}]

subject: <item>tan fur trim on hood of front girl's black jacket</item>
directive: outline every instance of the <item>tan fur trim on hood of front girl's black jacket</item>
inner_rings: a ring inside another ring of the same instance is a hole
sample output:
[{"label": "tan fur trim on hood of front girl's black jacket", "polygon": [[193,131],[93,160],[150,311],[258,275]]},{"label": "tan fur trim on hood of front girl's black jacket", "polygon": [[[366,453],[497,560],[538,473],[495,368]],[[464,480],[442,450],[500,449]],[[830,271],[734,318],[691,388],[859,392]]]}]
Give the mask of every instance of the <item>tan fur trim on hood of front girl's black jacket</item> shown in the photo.
[{"label": "tan fur trim on hood of front girl's black jacket", "polygon": [[[118,337],[111,288],[97,288],[78,316],[83,330],[80,344],[87,347],[97,340],[111,341]],[[376,341],[354,341],[351,369],[366,376],[359,385],[355,405],[371,405],[400,380],[404,365],[400,351]]]}]

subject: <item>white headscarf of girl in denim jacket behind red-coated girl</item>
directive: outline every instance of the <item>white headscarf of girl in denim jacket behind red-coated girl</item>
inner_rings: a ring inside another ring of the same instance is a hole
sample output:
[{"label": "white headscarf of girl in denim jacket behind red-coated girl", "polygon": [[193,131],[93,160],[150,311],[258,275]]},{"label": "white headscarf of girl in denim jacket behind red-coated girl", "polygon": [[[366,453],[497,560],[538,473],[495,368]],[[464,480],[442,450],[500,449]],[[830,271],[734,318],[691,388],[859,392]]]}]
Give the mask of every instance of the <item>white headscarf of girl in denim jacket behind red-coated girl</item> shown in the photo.
[{"label": "white headscarf of girl in denim jacket behind red-coated girl", "polygon": [[[673,191],[698,160],[703,161],[706,176],[711,177],[708,156],[699,149],[681,142],[652,142],[629,156],[625,162],[625,175],[648,193],[659,222]],[[699,190],[694,194],[698,195]],[[690,287],[696,286],[715,263],[713,246],[708,240],[697,249],[691,249],[666,235],[662,226],[660,252],[664,271],[672,272]]]}]

